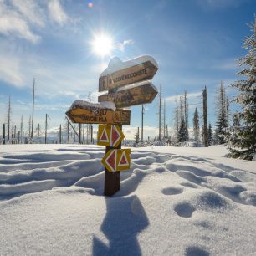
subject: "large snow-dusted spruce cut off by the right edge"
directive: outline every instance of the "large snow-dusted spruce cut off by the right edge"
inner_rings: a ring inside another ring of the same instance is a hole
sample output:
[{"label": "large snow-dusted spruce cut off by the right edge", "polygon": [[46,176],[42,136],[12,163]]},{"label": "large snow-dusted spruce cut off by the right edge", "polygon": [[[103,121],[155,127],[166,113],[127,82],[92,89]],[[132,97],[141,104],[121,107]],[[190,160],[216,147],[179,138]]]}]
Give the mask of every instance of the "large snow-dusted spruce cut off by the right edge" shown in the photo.
[{"label": "large snow-dusted spruce cut off by the right edge", "polygon": [[244,41],[243,48],[248,53],[238,59],[240,66],[245,68],[238,74],[246,77],[232,86],[238,90],[233,101],[240,105],[238,115],[240,125],[228,136],[229,156],[252,160],[256,154],[256,16],[250,26],[253,34]]}]

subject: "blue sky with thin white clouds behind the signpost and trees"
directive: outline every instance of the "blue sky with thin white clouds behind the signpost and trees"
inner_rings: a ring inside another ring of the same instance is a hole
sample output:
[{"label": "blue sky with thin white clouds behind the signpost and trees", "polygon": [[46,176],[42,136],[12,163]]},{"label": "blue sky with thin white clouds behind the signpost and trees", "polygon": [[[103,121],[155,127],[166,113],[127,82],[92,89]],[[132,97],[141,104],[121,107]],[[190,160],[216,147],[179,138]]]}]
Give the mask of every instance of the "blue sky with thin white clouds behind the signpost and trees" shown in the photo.
[{"label": "blue sky with thin white clouds behind the signpost and trees", "polygon": [[[97,102],[100,73],[110,59],[122,61],[151,55],[159,65],[152,79],[166,99],[166,124],[176,95],[187,90],[192,114],[202,115],[202,89],[207,86],[208,120],[214,126],[216,93],[221,80],[228,87],[239,79],[237,59],[246,54],[247,24],[256,13],[253,0],[0,0],[0,131],[7,121],[8,97],[12,121],[21,116],[28,130],[35,78],[34,127],[49,131],[64,125],[74,100]],[[110,52],[97,54],[94,42],[110,38]],[[157,96],[145,105],[144,137],[157,136]],[[233,109],[233,107],[232,107]],[[201,122],[202,123],[202,122]],[[131,107],[132,139],[141,127],[141,106]],[[96,128],[96,125],[95,125]]]}]

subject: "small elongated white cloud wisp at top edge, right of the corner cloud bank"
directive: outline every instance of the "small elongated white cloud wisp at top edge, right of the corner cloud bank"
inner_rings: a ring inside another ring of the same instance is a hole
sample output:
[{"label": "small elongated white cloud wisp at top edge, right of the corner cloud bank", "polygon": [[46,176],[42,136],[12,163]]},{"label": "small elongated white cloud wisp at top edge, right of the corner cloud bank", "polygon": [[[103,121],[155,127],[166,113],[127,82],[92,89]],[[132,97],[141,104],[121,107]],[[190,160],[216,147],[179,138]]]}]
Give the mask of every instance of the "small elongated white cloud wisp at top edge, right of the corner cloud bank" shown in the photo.
[{"label": "small elongated white cloud wisp at top edge, right of the corner cloud bank", "polygon": [[54,22],[59,23],[59,25],[63,25],[67,23],[69,18],[67,14],[64,12],[64,8],[62,8],[59,0],[50,0],[48,3],[49,15],[54,20]]}]

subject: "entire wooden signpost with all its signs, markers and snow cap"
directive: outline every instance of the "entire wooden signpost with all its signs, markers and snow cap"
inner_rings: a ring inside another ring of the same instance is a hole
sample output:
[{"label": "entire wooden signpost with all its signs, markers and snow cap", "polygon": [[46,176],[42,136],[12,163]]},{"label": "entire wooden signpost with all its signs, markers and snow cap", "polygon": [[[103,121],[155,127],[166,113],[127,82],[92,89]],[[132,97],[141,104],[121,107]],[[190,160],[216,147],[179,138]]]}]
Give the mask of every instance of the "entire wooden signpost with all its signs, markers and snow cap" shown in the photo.
[{"label": "entire wooden signpost with all its signs, markers and snow cap", "polygon": [[98,101],[115,103],[117,109],[74,102],[66,112],[74,123],[100,124],[97,144],[106,146],[101,161],[105,166],[105,196],[112,196],[120,190],[120,171],[128,170],[131,166],[131,150],[121,149],[121,141],[125,137],[122,125],[130,125],[131,111],[121,108],[154,100],[158,92],[148,80],[154,77],[157,69],[156,60],[151,56],[125,62],[115,57],[100,74],[99,91],[108,90],[108,94],[100,95]]}]

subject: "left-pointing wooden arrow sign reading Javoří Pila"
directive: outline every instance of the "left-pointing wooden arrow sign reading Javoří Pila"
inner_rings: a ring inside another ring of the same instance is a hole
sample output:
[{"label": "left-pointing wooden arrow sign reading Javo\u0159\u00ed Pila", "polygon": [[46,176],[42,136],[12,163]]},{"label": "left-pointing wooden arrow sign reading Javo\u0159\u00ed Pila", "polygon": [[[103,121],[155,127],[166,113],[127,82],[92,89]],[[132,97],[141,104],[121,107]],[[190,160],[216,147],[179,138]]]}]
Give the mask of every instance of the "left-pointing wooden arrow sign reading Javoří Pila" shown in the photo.
[{"label": "left-pointing wooden arrow sign reading Javo\u0159\u00ed Pila", "polygon": [[74,107],[66,112],[69,119],[79,124],[120,124],[130,125],[130,110]]}]

